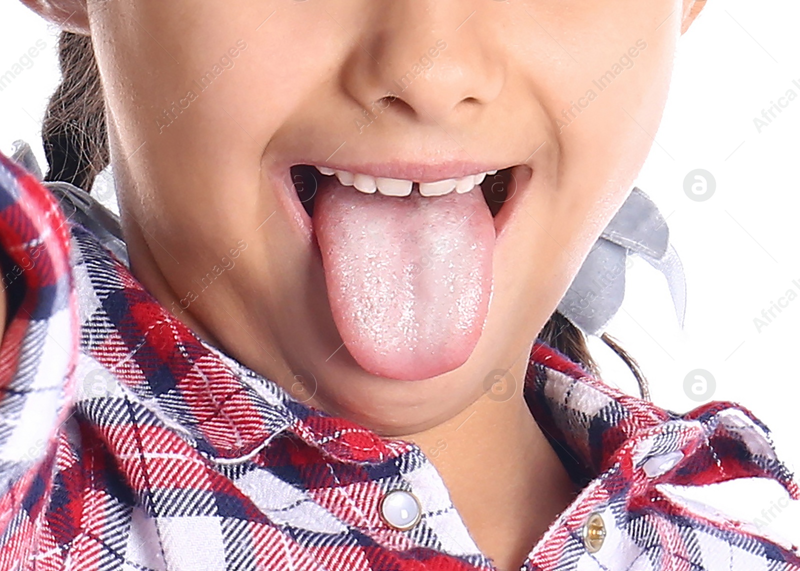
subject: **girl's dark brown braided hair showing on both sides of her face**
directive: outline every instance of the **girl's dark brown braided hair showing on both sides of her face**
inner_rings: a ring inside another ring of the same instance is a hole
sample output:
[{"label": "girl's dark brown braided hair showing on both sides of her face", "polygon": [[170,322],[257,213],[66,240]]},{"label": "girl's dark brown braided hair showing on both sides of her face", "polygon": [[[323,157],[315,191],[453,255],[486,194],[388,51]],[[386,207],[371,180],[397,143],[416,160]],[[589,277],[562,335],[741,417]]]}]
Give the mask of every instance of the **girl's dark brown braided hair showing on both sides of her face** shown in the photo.
[{"label": "girl's dark brown braided hair showing on both sides of her face", "polygon": [[[89,190],[110,160],[106,110],[91,38],[62,32],[58,38],[62,82],[50,98],[42,125],[42,142],[50,166],[46,181],[66,181]],[[634,373],[642,397],[649,399],[647,381],[638,363],[608,333],[600,337]],[[586,337],[561,313],[550,316],[539,339],[599,376]]]}]

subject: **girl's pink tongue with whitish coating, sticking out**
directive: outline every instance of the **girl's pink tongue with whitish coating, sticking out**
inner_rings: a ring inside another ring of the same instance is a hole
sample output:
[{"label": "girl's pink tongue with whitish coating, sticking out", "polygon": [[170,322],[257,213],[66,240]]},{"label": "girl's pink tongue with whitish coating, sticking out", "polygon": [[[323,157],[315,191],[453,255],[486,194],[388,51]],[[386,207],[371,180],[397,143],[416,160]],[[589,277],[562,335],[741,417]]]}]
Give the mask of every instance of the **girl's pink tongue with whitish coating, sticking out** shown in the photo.
[{"label": "girl's pink tongue with whitish coating, sticking out", "polygon": [[362,369],[417,380],[466,361],[492,287],[494,221],[479,189],[398,198],[326,177],[314,233],[334,322]]}]

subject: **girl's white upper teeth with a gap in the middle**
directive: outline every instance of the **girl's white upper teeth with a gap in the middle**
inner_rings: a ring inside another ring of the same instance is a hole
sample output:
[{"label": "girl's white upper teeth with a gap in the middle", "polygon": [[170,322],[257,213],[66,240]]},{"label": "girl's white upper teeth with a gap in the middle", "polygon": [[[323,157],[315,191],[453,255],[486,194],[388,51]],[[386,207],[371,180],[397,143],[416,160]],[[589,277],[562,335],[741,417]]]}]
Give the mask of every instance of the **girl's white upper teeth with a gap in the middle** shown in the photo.
[{"label": "girl's white upper teeth with a gap in the middle", "polygon": [[[414,181],[408,181],[402,178],[382,178],[372,177],[369,174],[350,173],[346,170],[334,170],[327,166],[318,166],[317,170],[326,176],[336,175],[338,181],[343,186],[354,186],[366,194],[373,194],[376,190],[380,194],[386,196],[408,196],[411,194],[411,187],[414,186]],[[486,173],[470,174],[462,178],[446,178],[443,181],[436,182],[420,182],[419,194],[422,196],[442,196],[442,194],[450,194],[454,190],[458,194],[463,194],[474,189],[475,185],[479,185],[486,178],[487,174],[496,174],[497,170],[490,170]]]}]

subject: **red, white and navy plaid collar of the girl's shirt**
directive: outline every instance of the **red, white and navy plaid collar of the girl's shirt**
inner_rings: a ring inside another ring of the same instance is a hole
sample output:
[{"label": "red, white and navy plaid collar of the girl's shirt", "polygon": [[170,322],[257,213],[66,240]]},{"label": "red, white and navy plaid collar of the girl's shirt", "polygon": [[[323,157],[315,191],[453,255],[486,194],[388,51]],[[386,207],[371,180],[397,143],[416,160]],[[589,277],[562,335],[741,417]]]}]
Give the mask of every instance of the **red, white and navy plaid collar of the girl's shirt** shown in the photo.
[{"label": "red, white and navy plaid collar of the girl's shirt", "polygon": [[[283,434],[355,464],[378,464],[414,446],[296,401],[274,381],[199,339],[92,234],[80,226],[72,231],[74,266],[90,269],[77,276],[82,303],[106,314],[118,344],[97,347],[84,336],[82,349],[210,461],[246,461]],[[530,355],[524,391],[538,425],[576,481],[620,465],[628,467],[632,481],[645,473],[650,477],[653,459],[672,453],[682,460],[659,476],[663,481],[688,485],[761,476],[800,496],[766,426],[734,403],[712,401],[690,413],[673,413],[606,385],[542,343]]]}]

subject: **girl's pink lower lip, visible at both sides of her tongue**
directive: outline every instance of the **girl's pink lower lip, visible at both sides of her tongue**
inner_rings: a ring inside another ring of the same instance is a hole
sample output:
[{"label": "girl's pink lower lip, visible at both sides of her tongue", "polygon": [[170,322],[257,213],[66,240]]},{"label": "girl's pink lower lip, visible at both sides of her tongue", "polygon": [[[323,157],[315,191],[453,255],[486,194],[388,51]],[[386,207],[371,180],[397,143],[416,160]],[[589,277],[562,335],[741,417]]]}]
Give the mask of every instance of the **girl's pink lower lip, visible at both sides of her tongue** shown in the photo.
[{"label": "girl's pink lower lip, visible at both sides of her tongue", "polygon": [[[272,166],[270,169],[269,180],[275,192],[278,193],[278,202],[282,203],[286,208],[286,213],[294,221],[294,226],[298,229],[300,238],[311,244],[316,242],[314,239],[314,225],[311,222],[311,217],[303,208],[297,192],[294,190],[292,182],[290,167],[292,165],[284,165],[281,167]],[[533,174],[528,166],[514,166],[511,170],[511,178],[515,182],[515,189],[512,195],[506,199],[506,203],[500,209],[497,216],[494,217],[494,232],[495,232],[495,247],[499,244],[506,226],[509,225],[510,219],[514,216],[517,202],[521,199],[520,196],[525,194],[531,183],[533,182]],[[353,192],[359,192],[353,189]],[[470,190],[470,192],[480,192],[480,190]]]}]

